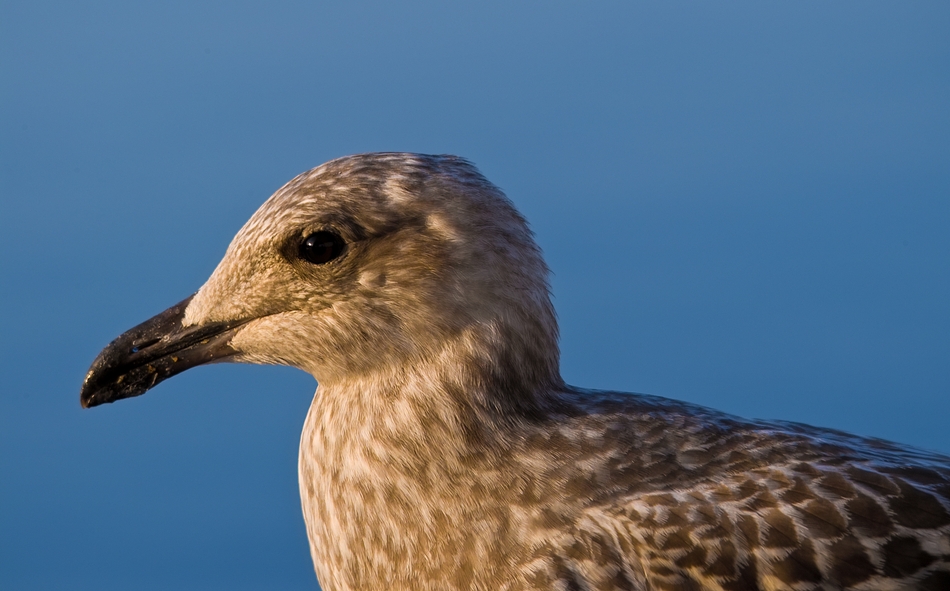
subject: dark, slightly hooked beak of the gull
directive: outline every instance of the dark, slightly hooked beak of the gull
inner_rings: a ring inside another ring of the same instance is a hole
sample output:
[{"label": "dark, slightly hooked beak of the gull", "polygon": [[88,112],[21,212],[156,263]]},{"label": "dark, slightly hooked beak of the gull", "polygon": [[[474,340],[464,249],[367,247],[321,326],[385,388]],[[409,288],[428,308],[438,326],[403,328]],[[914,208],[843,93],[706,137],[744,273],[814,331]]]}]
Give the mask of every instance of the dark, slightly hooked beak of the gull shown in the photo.
[{"label": "dark, slightly hooked beak of the gull", "polygon": [[184,326],[193,297],[125,332],[99,353],[79,393],[83,408],[139,396],[186,369],[237,353],[231,338],[247,321]]}]

